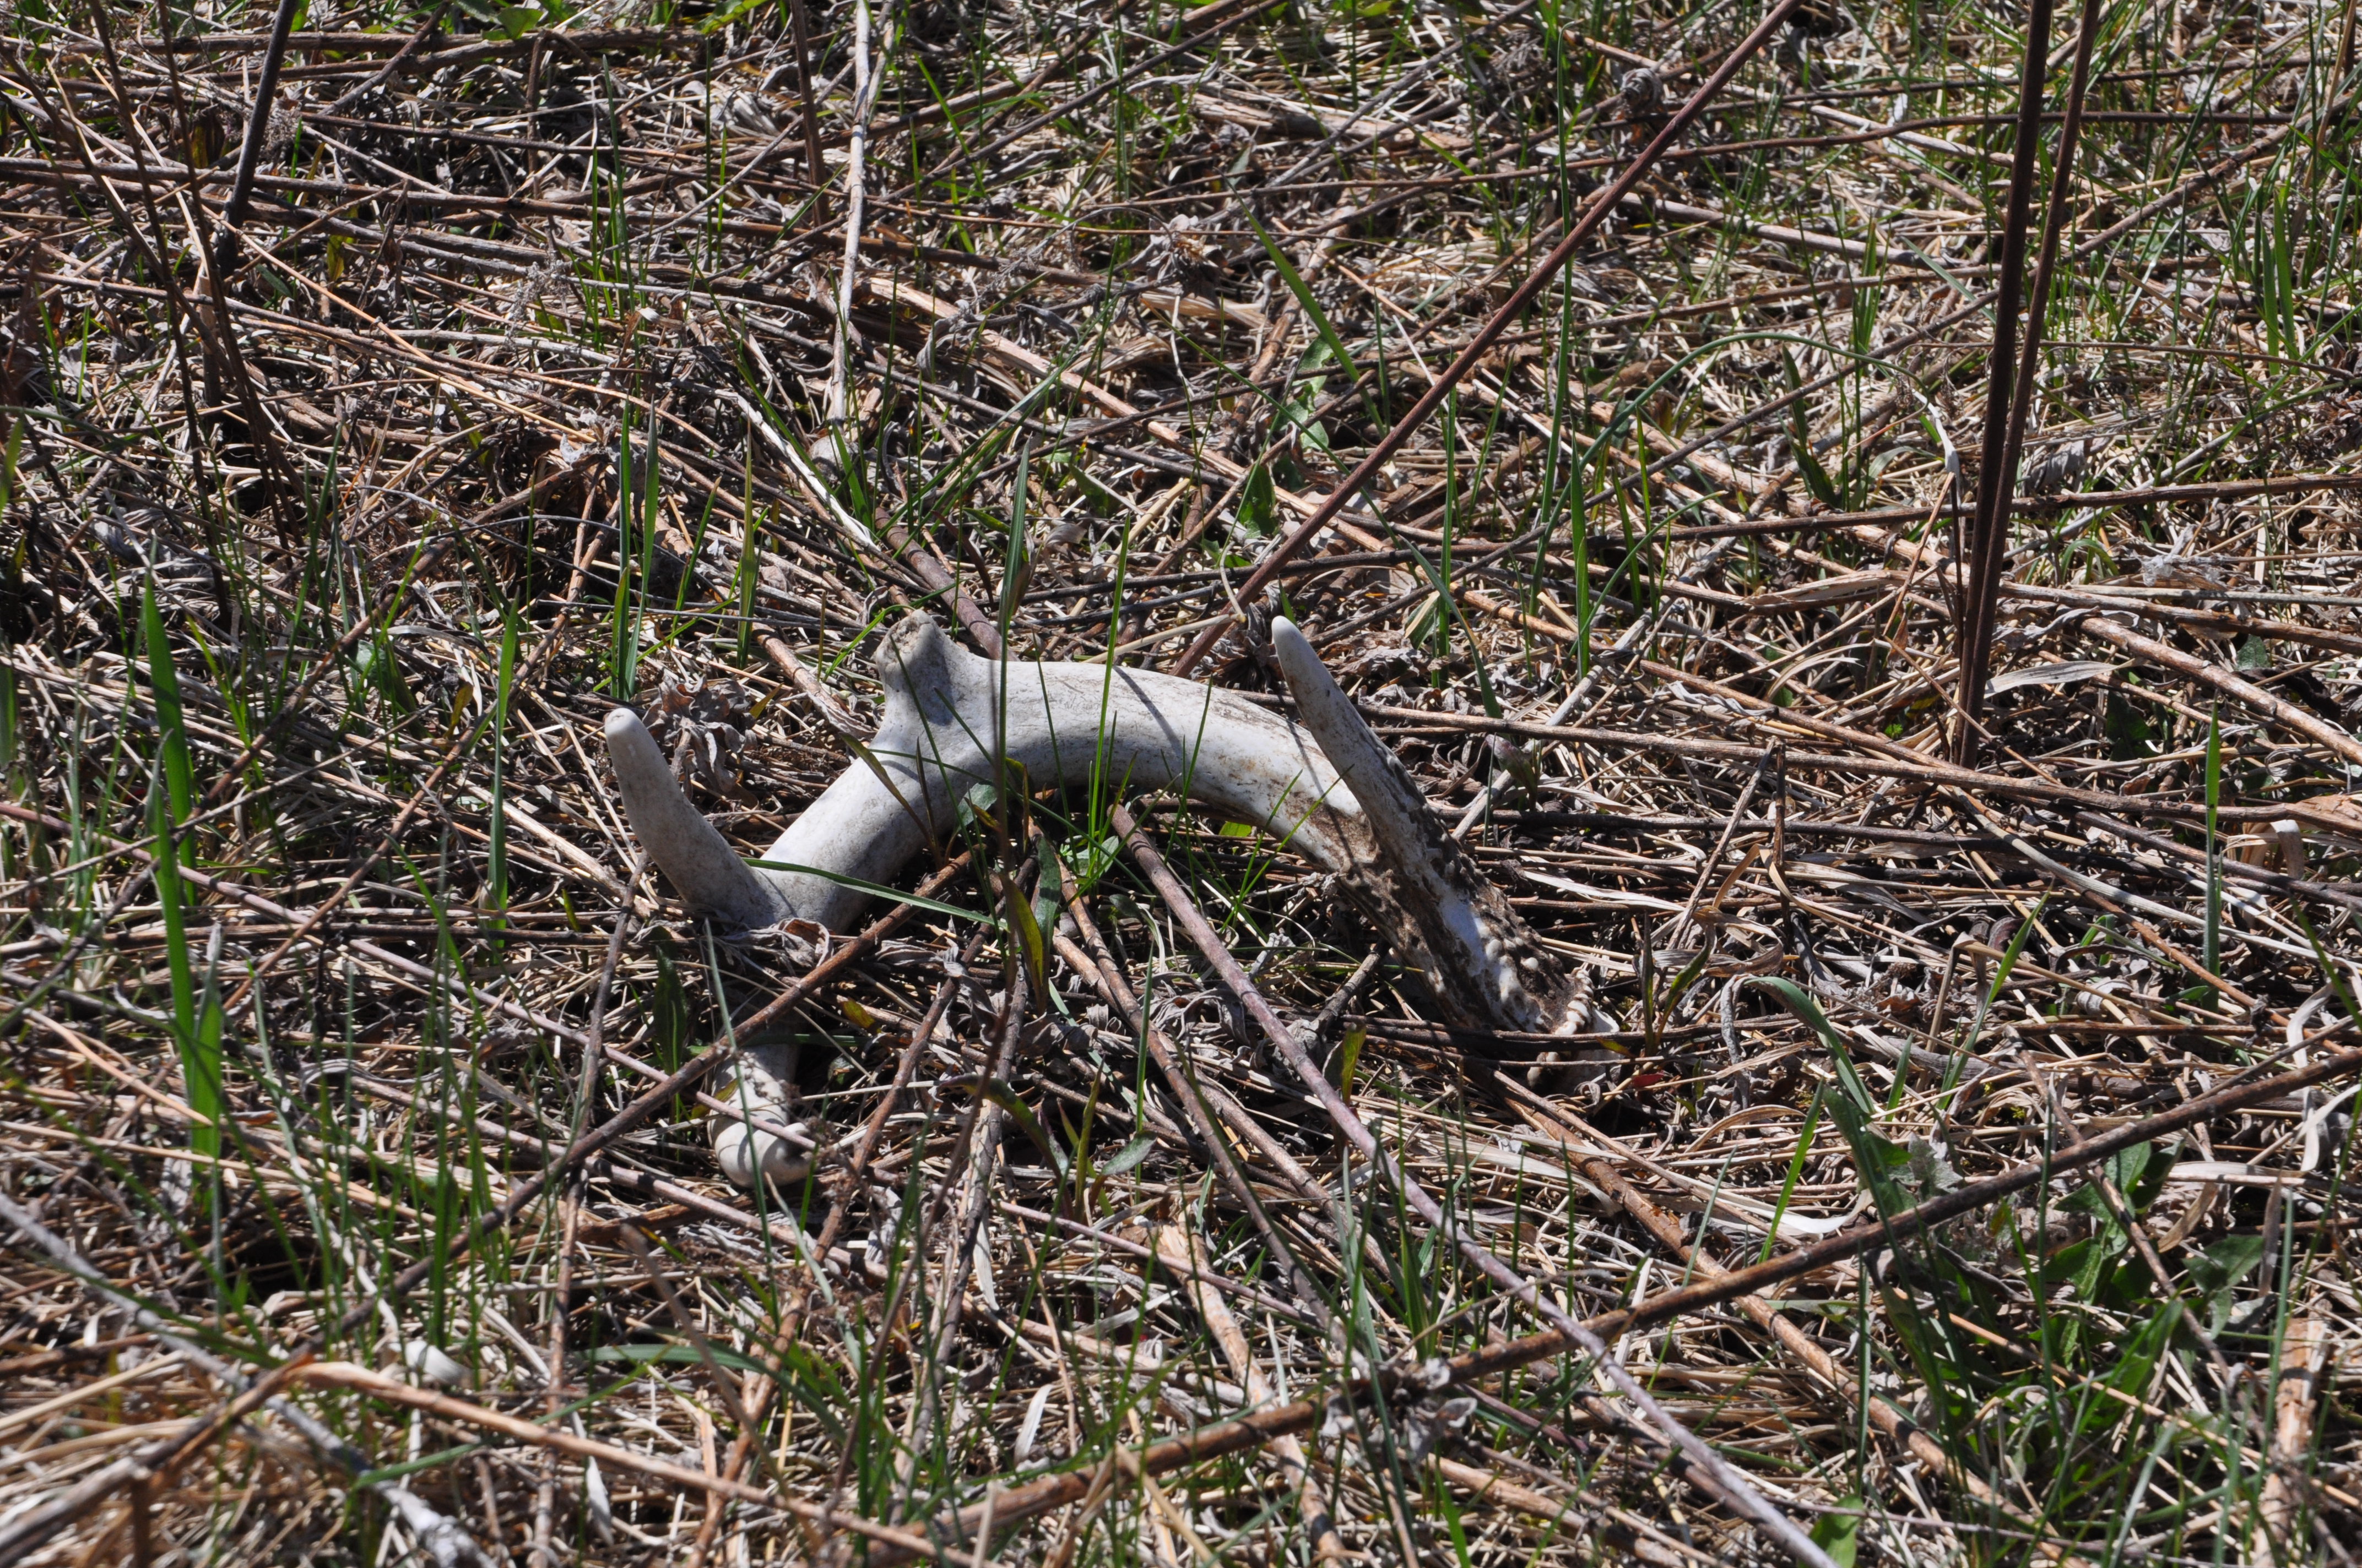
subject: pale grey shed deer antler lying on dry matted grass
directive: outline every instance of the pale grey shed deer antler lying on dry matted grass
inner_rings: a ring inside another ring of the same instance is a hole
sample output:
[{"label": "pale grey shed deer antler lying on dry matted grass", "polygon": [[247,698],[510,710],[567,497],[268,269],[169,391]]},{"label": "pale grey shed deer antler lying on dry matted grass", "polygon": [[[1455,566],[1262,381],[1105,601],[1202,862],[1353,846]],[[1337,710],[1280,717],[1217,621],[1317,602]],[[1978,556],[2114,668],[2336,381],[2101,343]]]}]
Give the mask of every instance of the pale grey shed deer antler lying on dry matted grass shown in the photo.
[{"label": "pale grey shed deer antler lying on dry matted grass", "polygon": [[[848,926],[869,897],[862,883],[893,881],[945,836],[959,801],[999,782],[1006,758],[1037,789],[1091,779],[1174,789],[1264,829],[1337,874],[1453,1023],[1580,1027],[1583,987],[1443,831],[1304,633],[1273,621],[1273,645],[1301,723],[1150,671],[978,659],[909,616],[879,649],[886,716],[876,734],[753,867],[690,805],[631,708],[607,716],[607,756],[650,857],[690,909],[723,926]],[[761,1053],[749,1091],[779,1098]],[[803,1169],[784,1141],[742,1122],[716,1124],[716,1155],[742,1185],[758,1167],[772,1178]]]}]

